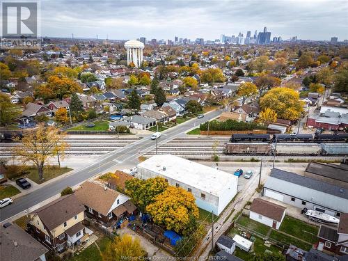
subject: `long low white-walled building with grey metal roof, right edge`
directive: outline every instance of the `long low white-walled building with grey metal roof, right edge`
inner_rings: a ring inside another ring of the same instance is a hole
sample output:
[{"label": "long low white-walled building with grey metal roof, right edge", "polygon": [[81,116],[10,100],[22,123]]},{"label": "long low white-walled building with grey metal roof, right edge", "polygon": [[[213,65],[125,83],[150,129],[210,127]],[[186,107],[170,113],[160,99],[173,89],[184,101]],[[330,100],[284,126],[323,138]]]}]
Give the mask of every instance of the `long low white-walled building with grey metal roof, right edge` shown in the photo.
[{"label": "long low white-walled building with grey metal roof, right edge", "polygon": [[348,212],[347,189],[278,168],[271,170],[264,184],[263,196],[331,216],[339,217]]}]

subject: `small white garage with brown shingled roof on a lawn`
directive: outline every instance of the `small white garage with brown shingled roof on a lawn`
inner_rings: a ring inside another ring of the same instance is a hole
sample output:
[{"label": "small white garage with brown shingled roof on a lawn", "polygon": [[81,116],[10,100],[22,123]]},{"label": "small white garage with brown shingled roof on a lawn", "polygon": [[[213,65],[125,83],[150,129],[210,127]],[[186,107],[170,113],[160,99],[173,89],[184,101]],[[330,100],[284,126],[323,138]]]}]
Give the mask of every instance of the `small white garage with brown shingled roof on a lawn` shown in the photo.
[{"label": "small white garage with brown shingled roof on a lawn", "polygon": [[250,207],[250,219],[271,228],[279,229],[285,216],[286,207],[271,203],[262,198],[255,198]]}]

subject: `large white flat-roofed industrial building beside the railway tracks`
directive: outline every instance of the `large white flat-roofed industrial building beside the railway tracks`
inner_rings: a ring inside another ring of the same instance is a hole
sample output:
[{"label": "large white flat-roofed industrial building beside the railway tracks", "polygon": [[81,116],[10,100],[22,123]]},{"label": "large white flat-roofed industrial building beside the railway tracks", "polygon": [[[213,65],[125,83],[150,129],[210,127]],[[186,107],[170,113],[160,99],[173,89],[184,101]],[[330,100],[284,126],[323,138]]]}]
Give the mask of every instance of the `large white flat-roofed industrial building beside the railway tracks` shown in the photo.
[{"label": "large white flat-roofed industrial building beside the railway tracks", "polygon": [[198,207],[219,215],[237,194],[235,175],[173,155],[155,155],[138,165],[141,179],[161,176],[193,194]]}]

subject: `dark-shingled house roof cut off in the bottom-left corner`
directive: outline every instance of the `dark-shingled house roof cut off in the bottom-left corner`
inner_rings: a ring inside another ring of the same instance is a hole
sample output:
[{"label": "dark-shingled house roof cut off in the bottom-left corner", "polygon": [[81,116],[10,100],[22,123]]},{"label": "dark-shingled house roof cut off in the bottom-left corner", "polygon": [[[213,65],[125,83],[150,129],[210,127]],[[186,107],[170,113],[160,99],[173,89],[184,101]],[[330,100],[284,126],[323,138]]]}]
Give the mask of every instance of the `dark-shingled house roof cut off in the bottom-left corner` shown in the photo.
[{"label": "dark-shingled house roof cut off in the bottom-left corner", "polygon": [[17,224],[4,223],[0,228],[1,260],[46,261],[48,249]]}]

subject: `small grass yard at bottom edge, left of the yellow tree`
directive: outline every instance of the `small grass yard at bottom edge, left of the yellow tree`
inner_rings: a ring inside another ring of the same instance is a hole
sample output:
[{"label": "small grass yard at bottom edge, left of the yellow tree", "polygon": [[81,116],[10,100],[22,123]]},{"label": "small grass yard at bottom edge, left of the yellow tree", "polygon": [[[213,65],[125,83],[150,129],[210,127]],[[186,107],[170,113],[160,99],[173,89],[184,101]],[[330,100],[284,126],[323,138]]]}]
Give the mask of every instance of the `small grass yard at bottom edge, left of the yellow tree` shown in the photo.
[{"label": "small grass yard at bottom edge, left of the yellow tree", "polygon": [[[96,243],[100,248],[100,251],[105,251],[107,244],[111,242],[111,239],[109,237],[102,237],[100,239],[97,239]],[[88,246],[88,248],[84,249],[84,251],[81,251],[79,255],[74,255],[74,258],[70,258],[69,261],[102,261],[102,255],[100,255],[100,251],[98,250],[97,246],[95,244],[91,244]]]}]

